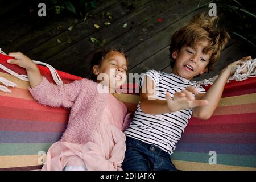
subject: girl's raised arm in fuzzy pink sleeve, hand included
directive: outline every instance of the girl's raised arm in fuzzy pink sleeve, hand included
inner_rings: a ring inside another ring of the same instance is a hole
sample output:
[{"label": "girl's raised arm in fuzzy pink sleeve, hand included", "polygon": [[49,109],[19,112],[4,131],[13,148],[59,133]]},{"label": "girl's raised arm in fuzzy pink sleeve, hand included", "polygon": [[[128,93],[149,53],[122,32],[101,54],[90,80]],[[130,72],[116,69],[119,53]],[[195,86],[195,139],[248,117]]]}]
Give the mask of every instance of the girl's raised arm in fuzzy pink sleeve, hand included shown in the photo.
[{"label": "girl's raised arm in fuzzy pink sleeve, hand included", "polygon": [[[36,64],[20,52],[9,53],[15,57],[8,63],[19,65],[27,71],[30,86],[28,90],[40,104],[52,107],[72,107],[79,92],[81,92],[82,81],[73,81],[70,84],[55,85],[42,77]],[[86,92],[86,90],[84,90]]]}]

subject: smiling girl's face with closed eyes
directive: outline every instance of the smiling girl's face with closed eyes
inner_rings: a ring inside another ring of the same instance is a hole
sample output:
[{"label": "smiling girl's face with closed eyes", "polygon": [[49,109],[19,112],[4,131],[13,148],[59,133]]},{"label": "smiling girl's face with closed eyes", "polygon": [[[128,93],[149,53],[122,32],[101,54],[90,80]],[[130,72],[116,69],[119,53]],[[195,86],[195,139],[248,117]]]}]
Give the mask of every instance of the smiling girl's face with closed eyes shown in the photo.
[{"label": "smiling girl's face with closed eyes", "polygon": [[93,73],[98,83],[107,85],[109,89],[120,88],[126,81],[127,60],[122,53],[111,51],[105,55],[100,65],[94,65]]}]

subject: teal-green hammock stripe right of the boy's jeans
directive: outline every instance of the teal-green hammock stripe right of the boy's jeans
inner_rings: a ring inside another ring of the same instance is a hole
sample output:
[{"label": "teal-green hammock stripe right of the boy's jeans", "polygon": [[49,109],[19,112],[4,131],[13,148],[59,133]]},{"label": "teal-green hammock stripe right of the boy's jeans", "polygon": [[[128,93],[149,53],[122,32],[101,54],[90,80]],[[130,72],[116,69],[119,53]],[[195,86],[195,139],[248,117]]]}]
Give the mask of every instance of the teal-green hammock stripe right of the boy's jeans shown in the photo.
[{"label": "teal-green hammock stripe right of the boy's jeans", "polygon": [[[209,155],[208,153],[195,153],[195,152],[174,152],[171,155],[171,158],[174,160],[184,160],[184,161],[200,162],[200,163],[209,163],[209,159],[211,157],[212,155]],[[229,165],[229,166],[256,167],[256,156],[217,154],[216,162],[217,164],[223,164],[223,165]]]}]

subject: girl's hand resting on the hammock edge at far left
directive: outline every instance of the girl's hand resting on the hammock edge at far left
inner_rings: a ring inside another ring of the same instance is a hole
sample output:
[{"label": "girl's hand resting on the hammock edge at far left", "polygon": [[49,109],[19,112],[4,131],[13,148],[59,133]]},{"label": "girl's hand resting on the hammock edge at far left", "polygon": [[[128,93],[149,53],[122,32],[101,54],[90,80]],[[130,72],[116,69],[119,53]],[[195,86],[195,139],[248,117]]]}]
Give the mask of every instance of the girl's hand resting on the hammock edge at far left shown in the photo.
[{"label": "girl's hand resting on the hammock edge at far left", "polygon": [[36,67],[36,64],[21,52],[11,52],[9,53],[9,56],[14,57],[15,59],[9,59],[7,60],[7,63],[19,65],[27,70]]}]

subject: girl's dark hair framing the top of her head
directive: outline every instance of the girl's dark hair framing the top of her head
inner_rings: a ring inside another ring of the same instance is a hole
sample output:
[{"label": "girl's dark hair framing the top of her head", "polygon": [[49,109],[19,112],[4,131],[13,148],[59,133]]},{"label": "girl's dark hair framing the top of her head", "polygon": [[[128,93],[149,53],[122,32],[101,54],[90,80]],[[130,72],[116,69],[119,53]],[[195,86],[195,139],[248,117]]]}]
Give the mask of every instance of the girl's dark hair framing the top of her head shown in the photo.
[{"label": "girl's dark hair framing the top of her head", "polygon": [[128,63],[126,54],[122,51],[121,48],[109,48],[109,49],[103,49],[102,51],[98,51],[94,53],[92,59],[90,60],[90,70],[91,70],[91,76],[90,79],[94,82],[97,82],[97,76],[93,73],[93,67],[94,65],[101,65],[102,61],[105,59],[105,56],[110,52],[119,52],[123,56],[125,56],[125,59]]}]

